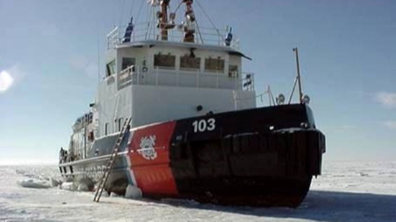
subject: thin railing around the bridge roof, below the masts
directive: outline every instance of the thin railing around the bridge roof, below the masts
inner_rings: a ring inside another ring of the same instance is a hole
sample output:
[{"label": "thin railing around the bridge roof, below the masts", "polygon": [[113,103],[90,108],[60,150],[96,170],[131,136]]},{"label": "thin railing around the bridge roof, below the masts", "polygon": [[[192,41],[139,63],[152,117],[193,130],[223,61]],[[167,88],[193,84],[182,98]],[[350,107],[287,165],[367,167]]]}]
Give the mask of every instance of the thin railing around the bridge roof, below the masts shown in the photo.
[{"label": "thin railing around the bridge roof, below the masts", "polygon": [[[120,26],[114,28],[107,35],[107,49],[112,49],[116,45],[121,44],[124,38],[126,26]],[[195,43],[206,44],[206,45],[218,45],[225,46],[225,36],[227,35],[227,30],[221,30],[217,28],[206,28],[199,27],[195,32]],[[181,28],[176,25],[175,28],[168,30],[168,40],[172,42],[183,42],[184,32]],[[131,35],[131,42],[134,41],[147,41],[147,40],[161,40],[160,30],[156,28],[156,24],[150,23],[137,23],[133,25],[133,32]],[[233,37],[230,45],[233,49],[239,49],[239,39],[236,36]]]}]

